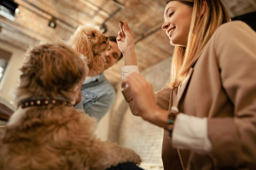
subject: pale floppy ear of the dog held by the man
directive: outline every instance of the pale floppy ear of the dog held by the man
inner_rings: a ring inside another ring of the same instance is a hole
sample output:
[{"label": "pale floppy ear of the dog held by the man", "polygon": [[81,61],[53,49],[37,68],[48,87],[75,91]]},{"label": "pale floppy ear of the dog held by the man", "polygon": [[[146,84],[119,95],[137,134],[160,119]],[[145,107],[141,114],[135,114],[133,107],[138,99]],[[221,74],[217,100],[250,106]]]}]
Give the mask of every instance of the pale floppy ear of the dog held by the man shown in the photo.
[{"label": "pale floppy ear of the dog held by the man", "polygon": [[77,31],[70,37],[69,43],[72,48],[76,50],[79,54],[83,54],[87,57],[87,61],[93,58],[93,52],[91,50],[90,38],[85,32],[84,26],[80,26]]}]

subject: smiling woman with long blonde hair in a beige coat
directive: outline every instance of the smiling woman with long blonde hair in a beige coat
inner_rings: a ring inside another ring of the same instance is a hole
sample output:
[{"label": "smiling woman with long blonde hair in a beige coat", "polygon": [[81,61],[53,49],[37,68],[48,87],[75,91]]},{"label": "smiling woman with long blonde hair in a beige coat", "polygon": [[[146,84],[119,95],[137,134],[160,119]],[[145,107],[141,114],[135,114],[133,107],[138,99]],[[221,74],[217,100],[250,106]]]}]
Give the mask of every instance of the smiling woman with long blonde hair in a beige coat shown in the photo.
[{"label": "smiling woman with long blonde hair in a beige coat", "polygon": [[[122,73],[122,85],[132,113],[165,128],[165,169],[255,168],[255,32],[230,22],[220,0],[168,0],[164,19],[175,46],[170,84],[154,96],[135,72]],[[137,65],[133,37],[127,23],[121,29],[121,70],[129,70]]]}]

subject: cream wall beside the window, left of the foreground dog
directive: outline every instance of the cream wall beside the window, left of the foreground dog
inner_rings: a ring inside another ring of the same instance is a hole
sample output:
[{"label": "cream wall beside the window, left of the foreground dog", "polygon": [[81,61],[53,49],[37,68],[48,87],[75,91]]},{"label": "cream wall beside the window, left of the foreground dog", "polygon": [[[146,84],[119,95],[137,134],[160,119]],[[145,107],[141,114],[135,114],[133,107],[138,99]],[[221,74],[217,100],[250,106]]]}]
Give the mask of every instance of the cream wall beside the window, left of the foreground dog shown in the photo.
[{"label": "cream wall beside the window, left of the foreground dog", "polygon": [[0,96],[8,101],[13,101],[9,92],[18,86],[20,77],[19,69],[23,63],[23,55],[25,54],[25,51],[1,41],[0,48],[12,54],[0,84]]}]

